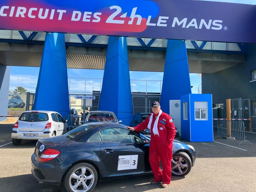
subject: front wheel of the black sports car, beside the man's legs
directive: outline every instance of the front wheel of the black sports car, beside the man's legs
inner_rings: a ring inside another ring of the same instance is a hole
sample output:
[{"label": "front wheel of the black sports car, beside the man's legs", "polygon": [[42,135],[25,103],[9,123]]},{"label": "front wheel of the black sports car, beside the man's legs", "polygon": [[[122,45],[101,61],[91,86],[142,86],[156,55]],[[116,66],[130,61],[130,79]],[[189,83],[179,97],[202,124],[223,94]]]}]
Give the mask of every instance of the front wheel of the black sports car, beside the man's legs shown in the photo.
[{"label": "front wheel of the black sports car, beside the man's legs", "polygon": [[190,156],[185,152],[178,152],[172,156],[172,175],[173,176],[185,176],[192,167]]}]

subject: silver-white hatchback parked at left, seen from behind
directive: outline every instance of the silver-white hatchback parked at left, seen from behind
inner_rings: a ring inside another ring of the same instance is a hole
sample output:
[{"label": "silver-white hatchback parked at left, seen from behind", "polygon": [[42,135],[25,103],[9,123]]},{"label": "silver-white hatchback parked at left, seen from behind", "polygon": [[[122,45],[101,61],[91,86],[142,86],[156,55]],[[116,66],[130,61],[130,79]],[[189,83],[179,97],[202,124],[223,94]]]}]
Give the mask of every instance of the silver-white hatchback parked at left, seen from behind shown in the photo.
[{"label": "silver-white hatchback parked at left, seen from behind", "polygon": [[62,135],[68,125],[55,111],[25,111],[12,128],[12,144],[20,145],[22,140]]}]

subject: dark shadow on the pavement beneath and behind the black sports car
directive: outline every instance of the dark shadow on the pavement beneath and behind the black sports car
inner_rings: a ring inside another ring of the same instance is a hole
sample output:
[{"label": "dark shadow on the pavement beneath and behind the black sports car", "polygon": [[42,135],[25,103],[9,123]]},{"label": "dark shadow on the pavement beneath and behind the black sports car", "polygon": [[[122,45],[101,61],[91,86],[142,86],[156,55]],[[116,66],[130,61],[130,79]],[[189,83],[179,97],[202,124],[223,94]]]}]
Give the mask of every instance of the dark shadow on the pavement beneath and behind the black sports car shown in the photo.
[{"label": "dark shadow on the pavement beneath and behind the black sports car", "polygon": [[[172,181],[180,180],[184,177],[172,176]],[[136,191],[144,192],[160,188],[160,185],[152,185],[150,181],[154,179],[153,175],[134,176],[130,178],[113,179],[110,181],[99,182],[93,191],[106,192],[106,188],[114,192]],[[5,192],[65,192],[62,186],[50,184],[38,184],[32,174],[11,176],[0,178],[0,191]]]}]

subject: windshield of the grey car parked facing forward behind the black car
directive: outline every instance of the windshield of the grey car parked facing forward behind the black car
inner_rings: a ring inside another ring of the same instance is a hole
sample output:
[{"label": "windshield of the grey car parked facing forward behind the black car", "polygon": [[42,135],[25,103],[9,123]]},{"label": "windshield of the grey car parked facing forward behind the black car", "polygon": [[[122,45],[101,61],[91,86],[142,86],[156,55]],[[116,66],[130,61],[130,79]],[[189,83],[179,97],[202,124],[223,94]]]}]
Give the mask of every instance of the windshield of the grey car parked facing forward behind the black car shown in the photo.
[{"label": "windshield of the grey car parked facing forward behind the black car", "polygon": [[117,122],[111,113],[89,113],[86,122]]}]

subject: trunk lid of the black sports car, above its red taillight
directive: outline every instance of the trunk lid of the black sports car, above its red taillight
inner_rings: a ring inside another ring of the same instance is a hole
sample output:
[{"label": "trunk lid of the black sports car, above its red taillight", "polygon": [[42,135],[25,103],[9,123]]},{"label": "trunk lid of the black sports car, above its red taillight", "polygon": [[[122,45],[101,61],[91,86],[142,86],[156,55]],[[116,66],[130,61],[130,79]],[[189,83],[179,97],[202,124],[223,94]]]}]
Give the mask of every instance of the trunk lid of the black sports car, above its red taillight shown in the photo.
[{"label": "trunk lid of the black sports car, above its red taillight", "polygon": [[62,148],[62,147],[73,147],[73,146],[82,146],[84,142],[77,142],[71,139],[66,138],[64,135],[48,137],[39,140],[47,148]]}]

